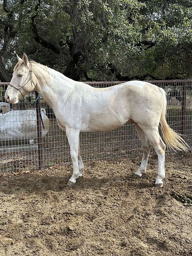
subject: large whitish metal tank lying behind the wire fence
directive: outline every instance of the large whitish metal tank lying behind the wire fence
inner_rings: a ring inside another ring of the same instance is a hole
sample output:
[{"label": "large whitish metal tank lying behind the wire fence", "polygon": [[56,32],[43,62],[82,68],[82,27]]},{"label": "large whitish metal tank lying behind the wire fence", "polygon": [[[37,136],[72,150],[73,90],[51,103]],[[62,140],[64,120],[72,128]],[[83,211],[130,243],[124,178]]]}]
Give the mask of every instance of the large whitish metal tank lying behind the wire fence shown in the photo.
[{"label": "large whitish metal tank lying behind the wire fence", "polygon": [[[0,153],[37,149],[36,110],[11,110],[5,102],[0,103],[0,108]],[[41,109],[41,115],[45,126],[42,136],[45,137],[50,122],[44,109]]]}]

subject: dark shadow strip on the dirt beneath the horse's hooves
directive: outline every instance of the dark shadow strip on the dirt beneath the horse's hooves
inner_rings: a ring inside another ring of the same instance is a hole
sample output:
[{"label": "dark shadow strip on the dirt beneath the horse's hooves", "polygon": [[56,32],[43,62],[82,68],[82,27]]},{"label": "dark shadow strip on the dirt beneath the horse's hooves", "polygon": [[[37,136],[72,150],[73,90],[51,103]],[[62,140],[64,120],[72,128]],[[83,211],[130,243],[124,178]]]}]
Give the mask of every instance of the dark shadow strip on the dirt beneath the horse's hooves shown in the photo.
[{"label": "dark shadow strip on the dirt beneath the horse's hooves", "polygon": [[[38,173],[29,175],[10,176],[0,183],[0,192],[4,194],[31,194],[46,191],[68,192],[82,190],[100,190],[104,188],[133,188],[144,189],[154,187],[153,179],[147,182],[145,178],[134,179],[133,174],[125,174],[108,177],[82,177],[73,186],[67,186],[70,176],[40,176]],[[2,178],[1,178],[2,180]],[[7,182],[7,183],[6,183]],[[3,185],[2,185],[3,184]]]}]

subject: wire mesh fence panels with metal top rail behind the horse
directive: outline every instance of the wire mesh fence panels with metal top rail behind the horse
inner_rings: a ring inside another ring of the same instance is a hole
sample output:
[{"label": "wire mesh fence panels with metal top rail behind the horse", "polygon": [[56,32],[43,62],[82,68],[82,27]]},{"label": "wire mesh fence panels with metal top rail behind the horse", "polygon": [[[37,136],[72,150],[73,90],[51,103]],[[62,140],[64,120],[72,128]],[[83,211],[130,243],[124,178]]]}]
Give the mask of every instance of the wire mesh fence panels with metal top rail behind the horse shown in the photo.
[{"label": "wire mesh fence panels with metal top rail behind the horse", "polygon": [[[192,80],[148,81],[167,92],[167,122],[184,136],[192,148]],[[93,87],[105,88],[123,82],[90,82]],[[7,104],[4,93],[8,83],[0,83],[0,172],[11,173],[36,170],[52,165],[71,163],[70,148],[65,132],[57,125],[51,108],[40,98],[41,126],[35,91],[26,103]],[[142,99],[141,99],[142,100]],[[83,161],[119,159],[141,154],[141,144],[134,124],[125,124],[111,132],[80,134]]]}]

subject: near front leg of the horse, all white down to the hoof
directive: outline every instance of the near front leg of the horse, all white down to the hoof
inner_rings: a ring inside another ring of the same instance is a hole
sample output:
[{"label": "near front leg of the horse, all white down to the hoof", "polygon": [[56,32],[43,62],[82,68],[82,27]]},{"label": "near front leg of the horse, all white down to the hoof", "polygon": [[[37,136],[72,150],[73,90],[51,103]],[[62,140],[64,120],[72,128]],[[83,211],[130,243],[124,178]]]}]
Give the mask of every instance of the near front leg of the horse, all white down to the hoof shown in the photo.
[{"label": "near front leg of the horse, all white down to the hoof", "polygon": [[67,185],[73,185],[76,183],[76,179],[79,177],[78,166],[78,148],[79,148],[79,130],[66,127],[66,134],[70,146],[71,159],[73,162],[73,175],[69,179]]}]

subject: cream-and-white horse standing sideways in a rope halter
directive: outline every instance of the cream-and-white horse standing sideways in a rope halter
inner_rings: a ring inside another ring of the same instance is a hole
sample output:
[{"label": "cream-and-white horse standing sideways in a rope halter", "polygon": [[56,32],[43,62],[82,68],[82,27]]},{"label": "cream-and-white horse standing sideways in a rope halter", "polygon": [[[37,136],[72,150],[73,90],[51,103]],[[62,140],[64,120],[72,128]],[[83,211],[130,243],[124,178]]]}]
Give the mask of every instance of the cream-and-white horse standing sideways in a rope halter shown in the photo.
[{"label": "cream-and-white horse standing sideways in a rope halter", "polygon": [[73,185],[82,176],[84,165],[80,155],[80,132],[111,131],[122,125],[134,123],[142,143],[143,158],[134,177],[146,172],[148,156],[153,146],[158,155],[156,187],[163,187],[165,177],[165,144],[158,127],[161,128],[168,147],[187,151],[186,142],[167,124],[166,93],[156,85],[130,81],[108,88],[93,88],[76,82],[61,73],[35,61],[17,55],[11,83],[5,99],[16,104],[32,90],[36,90],[53,109],[59,127],[66,131],[73,175],[68,185]]}]

